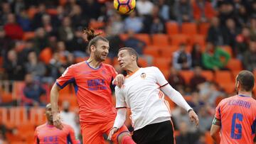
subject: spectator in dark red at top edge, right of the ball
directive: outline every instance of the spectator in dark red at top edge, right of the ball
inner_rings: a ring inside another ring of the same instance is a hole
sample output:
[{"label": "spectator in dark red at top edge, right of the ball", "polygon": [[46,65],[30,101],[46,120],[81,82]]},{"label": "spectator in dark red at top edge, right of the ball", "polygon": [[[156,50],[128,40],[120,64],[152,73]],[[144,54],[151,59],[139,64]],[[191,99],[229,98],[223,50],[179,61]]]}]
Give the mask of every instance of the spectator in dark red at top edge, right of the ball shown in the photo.
[{"label": "spectator in dark red at top edge, right of the ball", "polygon": [[215,10],[210,1],[196,0],[193,1],[193,18],[196,22],[208,22],[215,16]]}]

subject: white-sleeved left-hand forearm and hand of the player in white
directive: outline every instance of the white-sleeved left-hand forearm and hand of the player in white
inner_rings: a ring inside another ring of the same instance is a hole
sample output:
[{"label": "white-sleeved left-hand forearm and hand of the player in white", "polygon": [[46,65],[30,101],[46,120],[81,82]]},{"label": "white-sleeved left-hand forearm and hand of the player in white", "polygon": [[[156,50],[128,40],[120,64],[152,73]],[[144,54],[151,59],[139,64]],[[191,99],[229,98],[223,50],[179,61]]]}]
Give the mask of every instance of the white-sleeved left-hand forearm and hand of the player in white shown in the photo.
[{"label": "white-sleeved left-hand forearm and hand of the player in white", "polygon": [[124,121],[126,118],[127,110],[126,108],[117,109],[117,116],[114,120],[114,126],[110,130],[110,133],[107,137],[108,140],[111,140],[112,135],[118,131],[119,128],[121,128],[124,125]]}]

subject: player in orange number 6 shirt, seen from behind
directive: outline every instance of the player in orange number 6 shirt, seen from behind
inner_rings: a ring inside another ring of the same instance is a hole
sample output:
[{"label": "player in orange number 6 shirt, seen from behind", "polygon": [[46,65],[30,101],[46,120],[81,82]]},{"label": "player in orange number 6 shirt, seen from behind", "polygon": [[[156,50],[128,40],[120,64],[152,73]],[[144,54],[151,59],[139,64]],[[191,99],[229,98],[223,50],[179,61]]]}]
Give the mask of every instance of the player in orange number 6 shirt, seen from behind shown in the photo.
[{"label": "player in orange number 6 shirt, seen from behind", "polygon": [[236,77],[237,95],[220,101],[216,107],[210,135],[217,144],[252,144],[256,129],[256,100],[252,99],[255,78],[242,70]]}]

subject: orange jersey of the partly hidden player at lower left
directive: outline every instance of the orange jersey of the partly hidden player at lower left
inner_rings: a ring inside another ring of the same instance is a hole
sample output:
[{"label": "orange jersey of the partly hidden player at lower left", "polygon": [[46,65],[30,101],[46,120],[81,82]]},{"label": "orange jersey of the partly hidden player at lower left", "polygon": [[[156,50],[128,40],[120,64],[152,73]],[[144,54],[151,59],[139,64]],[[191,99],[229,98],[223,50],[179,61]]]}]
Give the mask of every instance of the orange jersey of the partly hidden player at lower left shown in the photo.
[{"label": "orange jersey of the partly hidden player at lower left", "polygon": [[75,133],[71,126],[63,123],[63,129],[59,130],[53,125],[45,123],[36,127],[34,135],[34,144],[78,144],[79,140],[75,140]]}]

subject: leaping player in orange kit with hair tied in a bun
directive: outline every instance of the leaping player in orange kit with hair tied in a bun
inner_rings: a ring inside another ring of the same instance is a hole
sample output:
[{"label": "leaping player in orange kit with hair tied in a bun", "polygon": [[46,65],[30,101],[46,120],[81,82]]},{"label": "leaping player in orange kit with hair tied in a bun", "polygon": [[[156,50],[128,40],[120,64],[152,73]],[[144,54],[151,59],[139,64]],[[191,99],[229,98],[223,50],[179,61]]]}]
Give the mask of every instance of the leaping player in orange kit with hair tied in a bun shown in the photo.
[{"label": "leaping player in orange kit with hair tied in a bun", "polygon": [[[63,128],[58,113],[58,95],[60,89],[73,83],[78,99],[83,143],[105,143],[102,135],[110,133],[117,113],[112,104],[110,84],[116,77],[115,82],[120,86],[124,76],[122,74],[117,76],[114,67],[102,63],[110,49],[108,40],[96,35],[92,29],[86,29],[84,33],[89,40],[90,58],[68,67],[53,85],[50,91],[53,124],[57,128]],[[114,143],[134,143],[124,125],[113,135],[112,140]]]}]

